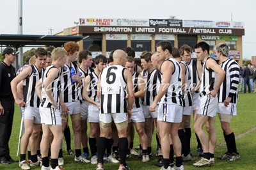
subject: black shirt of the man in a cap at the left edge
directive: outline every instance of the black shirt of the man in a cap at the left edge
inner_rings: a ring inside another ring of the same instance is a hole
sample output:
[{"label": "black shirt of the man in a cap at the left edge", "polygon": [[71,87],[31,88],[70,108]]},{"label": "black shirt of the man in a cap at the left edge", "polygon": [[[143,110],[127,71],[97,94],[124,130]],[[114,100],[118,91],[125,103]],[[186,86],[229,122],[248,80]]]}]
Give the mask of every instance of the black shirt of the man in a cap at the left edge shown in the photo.
[{"label": "black shirt of the man in a cap at the left edge", "polygon": [[4,62],[0,64],[0,101],[13,98],[11,81],[15,76],[15,68],[12,65],[8,66]]}]

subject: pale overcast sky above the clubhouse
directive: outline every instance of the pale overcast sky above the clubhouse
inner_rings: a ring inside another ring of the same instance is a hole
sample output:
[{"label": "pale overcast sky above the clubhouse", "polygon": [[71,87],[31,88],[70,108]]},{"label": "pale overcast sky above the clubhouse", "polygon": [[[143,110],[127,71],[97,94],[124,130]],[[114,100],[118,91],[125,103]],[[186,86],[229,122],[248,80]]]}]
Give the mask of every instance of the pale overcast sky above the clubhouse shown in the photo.
[{"label": "pale overcast sky above the clubhouse", "polygon": [[[18,33],[19,0],[0,0],[0,34]],[[256,56],[255,0],[23,0],[23,34],[52,35],[79,18],[223,20],[244,22],[243,59]]]}]

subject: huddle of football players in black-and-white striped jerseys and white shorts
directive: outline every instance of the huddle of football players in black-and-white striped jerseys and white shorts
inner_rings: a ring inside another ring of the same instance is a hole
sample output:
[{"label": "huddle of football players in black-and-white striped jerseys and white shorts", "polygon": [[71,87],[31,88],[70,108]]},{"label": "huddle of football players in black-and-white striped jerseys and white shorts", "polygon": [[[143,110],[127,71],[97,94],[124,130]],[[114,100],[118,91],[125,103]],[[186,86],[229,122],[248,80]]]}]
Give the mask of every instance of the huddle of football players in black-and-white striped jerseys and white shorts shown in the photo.
[{"label": "huddle of football players in black-and-white striped jerseys and white shorts", "polygon": [[[63,169],[63,132],[71,120],[75,151],[70,146],[67,150],[76,162],[94,164],[97,170],[104,169],[104,162],[119,164],[119,170],[130,169],[126,160],[131,154],[148,162],[156,128],[156,156],[161,157],[156,166],[184,169],[182,162],[192,160],[191,115],[197,154],[202,157],[193,166],[210,166],[215,162],[216,112],[227,143],[227,152],[217,158],[239,160],[230,129],[237,114],[239,65],[228,58],[227,44],[214,47],[220,65],[209,58],[209,49],[207,43],[197,43],[195,61],[189,45],[177,49],[170,42],[159,42],[154,54],[141,54],[141,67],[135,64],[131,47],[111,52],[109,59],[103,55],[92,59],[91,52],[79,52],[74,42],[50,54],[36,49],[35,63],[11,82],[24,122],[19,166]],[[138,152],[132,149],[134,129],[140,138]]]}]

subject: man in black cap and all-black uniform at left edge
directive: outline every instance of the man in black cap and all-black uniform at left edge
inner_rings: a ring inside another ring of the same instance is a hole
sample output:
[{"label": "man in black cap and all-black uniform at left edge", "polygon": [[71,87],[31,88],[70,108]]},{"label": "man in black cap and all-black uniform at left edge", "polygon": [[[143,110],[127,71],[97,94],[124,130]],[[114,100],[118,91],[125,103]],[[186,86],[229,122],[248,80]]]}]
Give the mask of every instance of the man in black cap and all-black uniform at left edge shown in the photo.
[{"label": "man in black cap and all-black uniform at left edge", "polygon": [[9,140],[12,133],[14,114],[14,98],[10,82],[16,76],[12,66],[19,52],[6,47],[3,52],[3,62],[0,64],[0,163],[17,162],[10,157]]}]

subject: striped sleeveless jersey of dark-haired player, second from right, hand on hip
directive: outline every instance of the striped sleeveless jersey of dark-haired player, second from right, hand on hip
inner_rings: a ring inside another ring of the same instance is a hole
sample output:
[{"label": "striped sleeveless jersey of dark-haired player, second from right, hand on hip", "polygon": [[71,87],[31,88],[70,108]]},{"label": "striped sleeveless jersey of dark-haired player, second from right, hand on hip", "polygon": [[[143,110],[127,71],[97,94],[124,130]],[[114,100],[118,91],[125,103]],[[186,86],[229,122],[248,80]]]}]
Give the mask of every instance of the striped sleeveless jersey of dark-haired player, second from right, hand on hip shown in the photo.
[{"label": "striped sleeveless jersey of dark-haired player, second from right, hand on hip", "polygon": [[[203,65],[203,72],[202,72],[202,79],[201,79],[201,85],[200,85],[200,97],[203,97],[205,95],[208,95],[210,91],[212,91],[215,86],[216,82],[218,80],[218,74],[214,72],[211,68],[208,69],[206,66],[207,60],[212,58],[207,58]],[[215,59],[213,59],[216,61]]]}]

